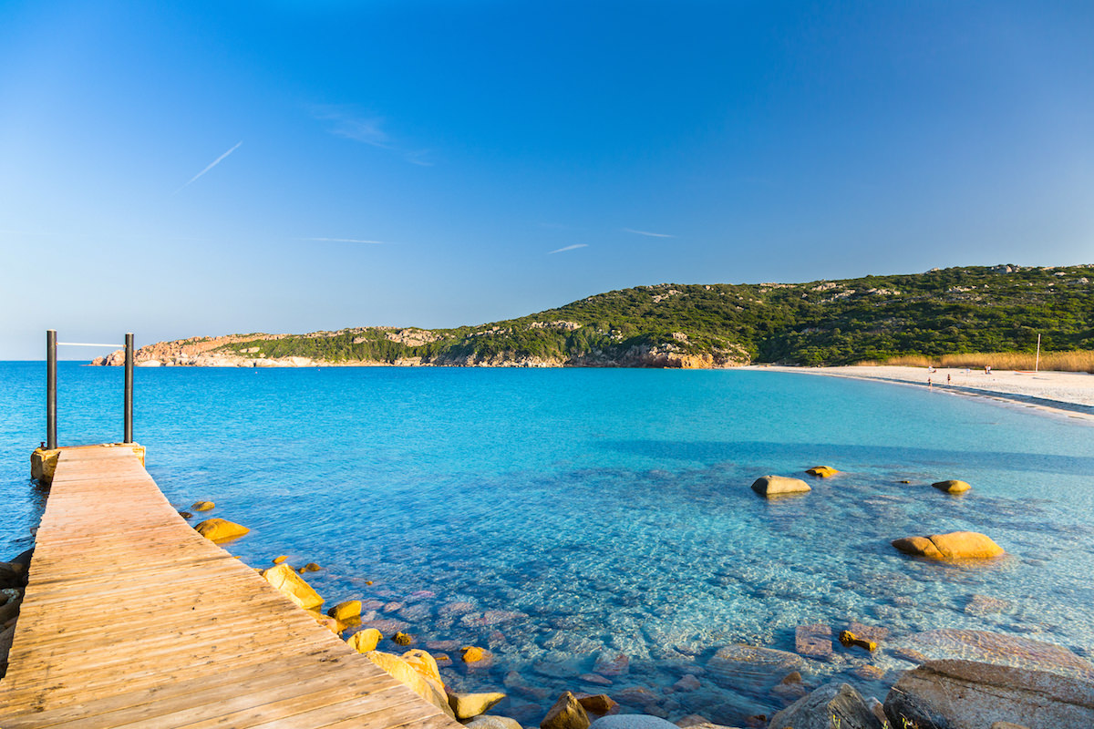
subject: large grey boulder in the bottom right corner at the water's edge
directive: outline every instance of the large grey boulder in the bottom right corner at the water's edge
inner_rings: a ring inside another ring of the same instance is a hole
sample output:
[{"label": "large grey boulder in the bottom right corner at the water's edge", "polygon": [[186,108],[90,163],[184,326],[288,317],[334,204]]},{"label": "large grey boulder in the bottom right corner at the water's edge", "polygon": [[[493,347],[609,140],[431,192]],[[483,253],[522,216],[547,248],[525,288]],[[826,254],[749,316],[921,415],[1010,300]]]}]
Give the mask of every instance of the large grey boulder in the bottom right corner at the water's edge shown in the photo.
[{"label": "large grey boulder in the bottom right corner at the water's edge", "polygon": [[996,721],[1094,727],[1094,683],[1011,666],[931,661],[900,677],[885,698],[885,715],[896,727],[919,729],[980,729]]}]

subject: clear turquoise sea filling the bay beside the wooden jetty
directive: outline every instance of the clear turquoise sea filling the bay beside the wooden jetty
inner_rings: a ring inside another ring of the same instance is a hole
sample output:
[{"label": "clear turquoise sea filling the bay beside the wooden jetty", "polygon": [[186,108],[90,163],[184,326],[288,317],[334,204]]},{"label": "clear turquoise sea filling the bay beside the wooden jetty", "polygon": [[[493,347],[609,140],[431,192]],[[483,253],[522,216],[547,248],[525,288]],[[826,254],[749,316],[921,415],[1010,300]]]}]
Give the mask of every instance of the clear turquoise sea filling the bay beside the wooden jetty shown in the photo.
[{"label": "clear turquoise sea filling the bay beside the wooden jetty", "polygon": [[[61,445],[120,439],[120,368],[61,363],[59,380]],[[0,363],[0,558],[32,545],[44,504],[28,480],[44,383],[43,363]],[[365,600],[369,622],[456,659],[451,686],[507,691],[496,713],[526,724],[567,689],[743,724],[790,701],[772,687],[791,668],[884,698],[911,666],[894,649],[935,628],[1094,656],[1094,430],[1067,416],[735,371],[162,368],[138,369],[136,392],[167,497],[252,529],[232,553],[321,564],[307,578],[328,604]],[[801,473],[816,465],[842,473]],[[813,491],[767,502],[749,485],[768,473]],[[951,478],[973,491],[929,485]],[[104,493],[104,529],[110,510]],[[953,530],[1010,556],[889,545]],[[877,654],[718,657],[852,620],[887,630]],[[469,670],[464,645],[492,661]]]}]

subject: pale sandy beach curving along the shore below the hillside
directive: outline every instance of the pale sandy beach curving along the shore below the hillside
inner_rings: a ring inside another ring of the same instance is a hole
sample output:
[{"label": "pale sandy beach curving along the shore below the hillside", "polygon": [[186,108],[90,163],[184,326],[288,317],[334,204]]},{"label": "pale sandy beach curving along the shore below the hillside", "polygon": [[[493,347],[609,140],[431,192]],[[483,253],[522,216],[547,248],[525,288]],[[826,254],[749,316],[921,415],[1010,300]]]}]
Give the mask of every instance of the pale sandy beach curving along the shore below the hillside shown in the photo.
[{"label": "pale sandy beach curving along the shore below the hillside", "polygon": [[1094,375],[1075,372],[1022,373],[1011,371],[942,367],[858,366],[778,367],[753,366],[752,369],[790,372],[834,377],[853,377],[932,387],[955,395],[980,395],[1023,404],[1034,404],[1083,416],[1094,421]]}]

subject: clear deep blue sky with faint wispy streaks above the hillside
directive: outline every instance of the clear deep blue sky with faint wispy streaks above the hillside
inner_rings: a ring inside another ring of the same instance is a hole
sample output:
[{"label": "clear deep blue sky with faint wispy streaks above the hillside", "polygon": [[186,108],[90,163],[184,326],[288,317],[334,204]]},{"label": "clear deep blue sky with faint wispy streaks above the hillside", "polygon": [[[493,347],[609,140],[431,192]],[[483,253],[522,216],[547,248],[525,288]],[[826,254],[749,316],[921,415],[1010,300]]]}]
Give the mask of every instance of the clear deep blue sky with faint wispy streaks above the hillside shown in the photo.
[{"label": "clear deep blue sky with faint wispy streaks above the hillside", "polygon": [[1094,261],[1091,38],[1086,1],[0,2],[0,358]]}]

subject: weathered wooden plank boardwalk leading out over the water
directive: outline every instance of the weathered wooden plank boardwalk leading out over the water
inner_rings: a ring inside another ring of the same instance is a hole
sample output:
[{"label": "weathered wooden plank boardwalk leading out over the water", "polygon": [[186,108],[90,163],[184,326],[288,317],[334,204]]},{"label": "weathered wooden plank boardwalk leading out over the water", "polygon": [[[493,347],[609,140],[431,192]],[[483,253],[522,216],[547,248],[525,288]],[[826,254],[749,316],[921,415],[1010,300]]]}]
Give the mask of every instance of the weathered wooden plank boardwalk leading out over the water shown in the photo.
[{"label": "weathered wooden plank boardwalk leading out over the water", "polygon": [[131,448],[61,451],[0,728],[459,727],[175,513]]}]

